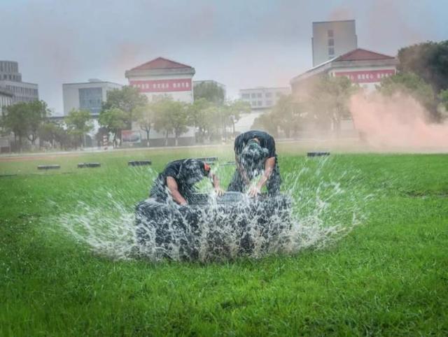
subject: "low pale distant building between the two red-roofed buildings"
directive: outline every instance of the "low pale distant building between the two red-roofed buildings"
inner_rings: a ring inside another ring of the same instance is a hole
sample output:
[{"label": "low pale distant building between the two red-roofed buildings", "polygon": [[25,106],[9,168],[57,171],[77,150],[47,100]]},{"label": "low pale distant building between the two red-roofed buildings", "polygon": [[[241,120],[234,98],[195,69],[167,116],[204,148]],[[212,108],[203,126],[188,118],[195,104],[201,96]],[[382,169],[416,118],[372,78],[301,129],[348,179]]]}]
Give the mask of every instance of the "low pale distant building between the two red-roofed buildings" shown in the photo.
[{"label": "low pale distant building between the two red-roofed buildings", "polygon": [[275,105],[280,96],[288,94],[290,94],[289,87],[255,87],[239,90],[239,98],[250,103],[252,110],[268,110]]}]

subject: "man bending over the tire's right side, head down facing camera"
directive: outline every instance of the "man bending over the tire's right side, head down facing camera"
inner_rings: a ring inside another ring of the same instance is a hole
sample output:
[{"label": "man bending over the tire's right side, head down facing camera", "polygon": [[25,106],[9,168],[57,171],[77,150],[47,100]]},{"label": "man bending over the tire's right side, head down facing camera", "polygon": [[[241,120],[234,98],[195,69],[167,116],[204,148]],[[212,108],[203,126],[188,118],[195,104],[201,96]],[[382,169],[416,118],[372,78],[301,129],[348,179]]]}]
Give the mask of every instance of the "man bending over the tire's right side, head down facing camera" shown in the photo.
[{"label": "man bending over the tire's right side, head down facing camera", "polygon": [[[235,138],[235,162],[237,170],[228,187],[229,192],[246,192],[256,196],[266,185],[273,196],[280,192],[280,170],[275,153],[275,141],[264,131],[247,131]],[[256,185],[251,180],[261,174]]]}]

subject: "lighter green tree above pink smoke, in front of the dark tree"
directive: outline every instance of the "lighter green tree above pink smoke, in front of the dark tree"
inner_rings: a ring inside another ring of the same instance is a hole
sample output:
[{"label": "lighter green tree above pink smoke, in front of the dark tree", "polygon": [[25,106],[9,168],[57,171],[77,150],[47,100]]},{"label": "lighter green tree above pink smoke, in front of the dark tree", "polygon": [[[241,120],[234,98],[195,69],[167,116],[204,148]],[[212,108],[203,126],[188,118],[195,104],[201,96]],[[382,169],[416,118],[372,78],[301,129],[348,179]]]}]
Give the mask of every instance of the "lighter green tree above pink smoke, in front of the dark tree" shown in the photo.
[{"label": "lighter green tree above pink smoke, in front of the dark tree", "polygon": [[433,88],[423,78],[414,73],[398,73],[384,78],[377,89],[386,96],[392,96],[398,92],[409,94],[428,110],[433,120],[440,118],[437,113],[437,102],[435,101]]}]

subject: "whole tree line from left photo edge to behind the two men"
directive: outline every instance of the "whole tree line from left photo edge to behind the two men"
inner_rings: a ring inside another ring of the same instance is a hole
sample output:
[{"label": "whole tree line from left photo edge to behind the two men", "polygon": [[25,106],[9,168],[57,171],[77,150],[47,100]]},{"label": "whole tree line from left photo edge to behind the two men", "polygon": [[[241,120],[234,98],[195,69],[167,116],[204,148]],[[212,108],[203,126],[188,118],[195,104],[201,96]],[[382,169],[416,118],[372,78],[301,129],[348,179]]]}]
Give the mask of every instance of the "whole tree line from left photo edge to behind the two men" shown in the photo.
[{"label": "whole tree line from left photo edge to behind the two men", "polygon": [[[121,131],[139,129],[146,134],[146,145],[151,146],[150,133],[156,130],[165,136],[179,137],[195,128],[198,143],[218,141],[235,133],[235,123],[241,113],[250,112],[248,103],[225,101],[221,87],[214,83],[203,83],[195,88],[195,101],[174,101],[169,96],[160,96],[155,101],[139,93],[135,87],[124,86],[107,92],[106,101],[99,113],[100,128],[97,140],[103,136],[118,144]],[[52,148],[71,149],[85,145],[85,136],[93,130],[92,116],[86,110],[71,110],[63,120],[50,119],[50,110],[44,101],[20,102],[3,109],[0,119],[1,133],[13,134],[15,148],[24,148],[29,141],[32,148],[50,145]],[[230,130],[230,131],[229,131]],[[38,143],[36,141],[38,140]]]}]

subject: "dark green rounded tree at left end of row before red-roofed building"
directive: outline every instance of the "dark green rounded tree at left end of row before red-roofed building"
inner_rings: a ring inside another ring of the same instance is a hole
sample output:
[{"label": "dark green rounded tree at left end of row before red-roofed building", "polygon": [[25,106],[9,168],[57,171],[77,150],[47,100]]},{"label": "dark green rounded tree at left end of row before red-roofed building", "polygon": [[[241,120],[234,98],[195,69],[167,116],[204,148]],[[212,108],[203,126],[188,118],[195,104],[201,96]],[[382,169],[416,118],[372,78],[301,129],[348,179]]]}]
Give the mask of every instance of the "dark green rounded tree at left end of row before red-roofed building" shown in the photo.
[{"label": "dark green rounded tree at left end of row before red-roofed building", "polygon": [[120,109],[125,113],[125,127],[131,129],[132,122],[136,120],[133,111],[146,103],[148,103],[148,98],[144,94],[140,94],[137,87],[125,85],[121,89],[113,89],[107,92],[106,102],[103,104],[102,110]]}]

